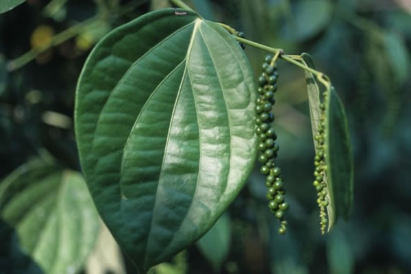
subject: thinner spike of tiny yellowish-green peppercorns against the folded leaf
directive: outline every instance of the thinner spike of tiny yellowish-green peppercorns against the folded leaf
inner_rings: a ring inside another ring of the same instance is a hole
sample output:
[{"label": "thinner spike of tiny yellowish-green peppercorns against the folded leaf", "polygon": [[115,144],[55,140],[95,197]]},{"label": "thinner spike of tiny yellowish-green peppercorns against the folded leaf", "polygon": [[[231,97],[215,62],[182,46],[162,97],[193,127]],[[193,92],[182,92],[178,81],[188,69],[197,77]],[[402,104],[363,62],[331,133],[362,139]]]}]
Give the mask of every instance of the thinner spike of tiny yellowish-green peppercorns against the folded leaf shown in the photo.
[{"label": "thinner spike of tiny yellowish-green peppercorns against the folded leaf", "polygon": [[320,114],[320,121],[317,127],[317,133],[314,136],[314,140],[316,142],[316,155],[314,158],[314,177],[315,180],[312,185],[315,187],[317,192],[317,204],[320,208],[320,225],[321,225],[321,233],[325,233],[325,227],[327,226],[327,214],[325,213],[325,208],[328,206],[328,201],[326,200],[328,190],[327,190],[327,183],[326,183],[326,171],[327,165],[325,164],[325,108],[327,105],[327,97],[328,97],[329,90],[325,90],[323,92],[323,103],[320,103],[319,108],[321,111]]}]

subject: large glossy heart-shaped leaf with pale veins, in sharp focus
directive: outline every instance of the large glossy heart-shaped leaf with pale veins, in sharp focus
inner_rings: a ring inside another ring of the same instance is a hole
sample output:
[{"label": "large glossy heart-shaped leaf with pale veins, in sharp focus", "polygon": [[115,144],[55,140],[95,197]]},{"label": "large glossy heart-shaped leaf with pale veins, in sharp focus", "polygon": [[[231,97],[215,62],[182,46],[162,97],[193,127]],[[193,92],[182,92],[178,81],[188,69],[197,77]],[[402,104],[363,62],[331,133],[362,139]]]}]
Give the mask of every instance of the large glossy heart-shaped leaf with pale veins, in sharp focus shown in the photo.
[{"label": "large glossy heart-shaped leaf with pale veins, in sharp focus", "polygon": [[236,40],[194,12],[145,14],[90,54],[75,100],[80,160],[140,271],[200,238],[245,184],[254,90]]}]

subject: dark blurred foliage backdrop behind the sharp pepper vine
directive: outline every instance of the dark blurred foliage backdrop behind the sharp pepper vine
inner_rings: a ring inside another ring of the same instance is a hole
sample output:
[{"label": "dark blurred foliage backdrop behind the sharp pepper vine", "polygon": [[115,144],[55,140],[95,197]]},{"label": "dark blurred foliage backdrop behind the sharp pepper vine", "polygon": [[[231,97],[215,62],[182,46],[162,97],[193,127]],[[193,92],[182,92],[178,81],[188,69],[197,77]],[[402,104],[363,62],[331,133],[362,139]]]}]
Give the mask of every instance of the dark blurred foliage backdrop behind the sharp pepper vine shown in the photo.
[{"label": "dark blurred foliage backdrop behind the sharp pepper vine", "polygon": [[[411,2],[187,3],[246,38],[288,54],[310,53],[329,75],[349,116],[354,206],[349,221],[321,236],[303,71],[280,61],[275,126],[290,201],[286,236],[277,235],[256,166],[210,232],[152,273],[411,273]],[[0,178],[34,158],[80,170],[73,103],[88,53],[114,27],[168,6],[163,0],[27,0],[0,15]],[[258,75],[266,53],[245,52]],[[0,273],[27,273],[18,262],[26,264],[29,254],[14,228],[3,220],[0,228]],[[95,233],[82,273],[133,273],[110,233]],[[38,273],[33,265],[30,273]]]}]

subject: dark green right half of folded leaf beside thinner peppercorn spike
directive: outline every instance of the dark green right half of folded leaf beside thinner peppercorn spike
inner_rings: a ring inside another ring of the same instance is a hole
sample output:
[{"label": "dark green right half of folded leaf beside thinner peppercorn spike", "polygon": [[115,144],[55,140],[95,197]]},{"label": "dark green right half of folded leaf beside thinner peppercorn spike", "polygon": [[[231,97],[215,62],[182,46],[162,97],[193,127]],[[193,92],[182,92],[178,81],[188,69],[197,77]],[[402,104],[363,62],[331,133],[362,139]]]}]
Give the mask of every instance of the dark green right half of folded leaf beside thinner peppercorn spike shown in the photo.
[{"label": "dark green right half of folded leaf beside thinner peppercorn spike", "polygon": [[329,91],[326,112],[325,162],[329,196],[335,218],[344,216],[347,219],[353,202],[353,160],[347,117],[334,88]]}]

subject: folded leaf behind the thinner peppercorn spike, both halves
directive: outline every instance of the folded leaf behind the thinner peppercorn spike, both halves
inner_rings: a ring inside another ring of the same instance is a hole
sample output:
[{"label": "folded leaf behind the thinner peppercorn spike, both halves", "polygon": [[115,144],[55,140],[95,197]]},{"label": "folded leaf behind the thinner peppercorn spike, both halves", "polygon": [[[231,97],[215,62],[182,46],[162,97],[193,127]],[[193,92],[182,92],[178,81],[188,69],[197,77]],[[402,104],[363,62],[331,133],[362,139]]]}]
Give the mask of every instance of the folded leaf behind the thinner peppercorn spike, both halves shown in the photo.
[{"label": "folded leaf behind the thinner peppercorn spike, both halves", "polygon": [[[303,63],[314,69],[310,55],[301,55]],[[306,71],[308,103],[310,106],[310,119],[312,136],[316,135],[321,116],[319,105],[320,88],[312,73]],[[345,110],[334,88],[329,90],[329,99],[325,124],[325,162],[327,164],[327,177],[324,177],[328,186],[327,216],[328,231],[332,228],[338,216],[348,217],[353,201],[353,160],[349,128]],[[316,142],[314,148],[317,150]]]}]

